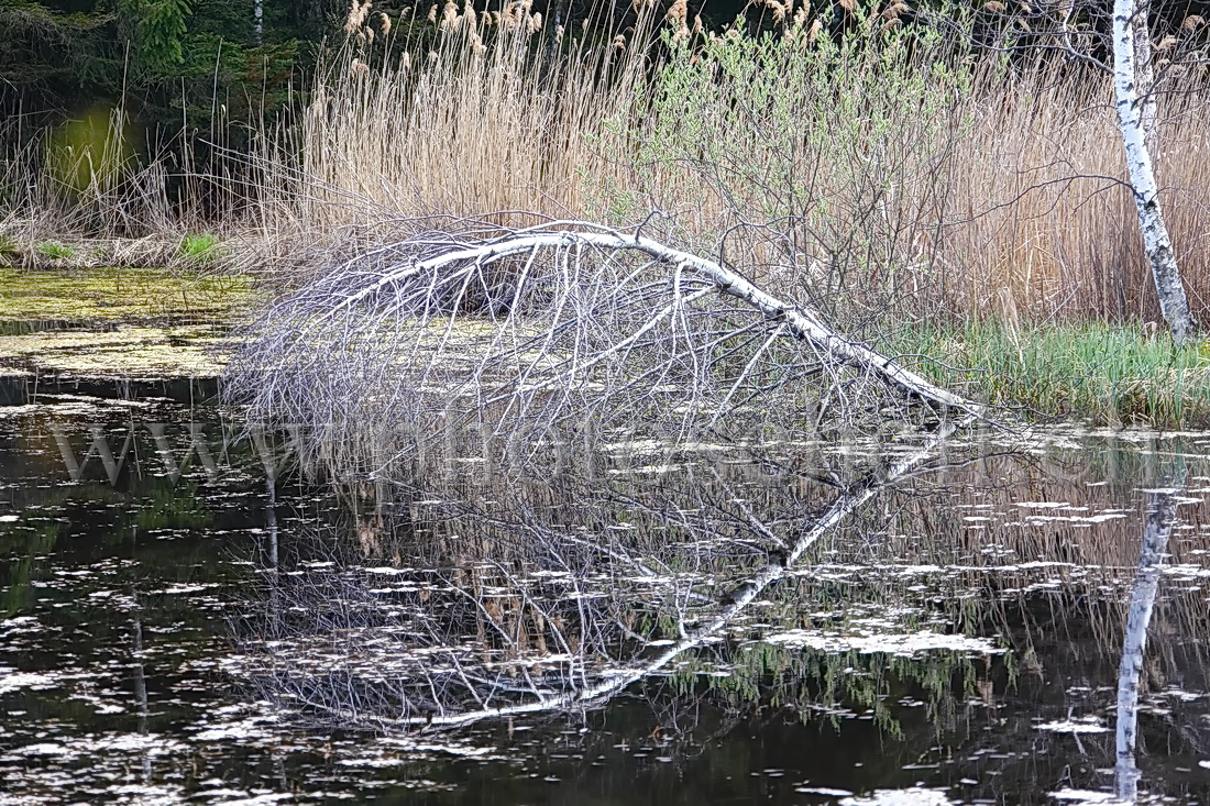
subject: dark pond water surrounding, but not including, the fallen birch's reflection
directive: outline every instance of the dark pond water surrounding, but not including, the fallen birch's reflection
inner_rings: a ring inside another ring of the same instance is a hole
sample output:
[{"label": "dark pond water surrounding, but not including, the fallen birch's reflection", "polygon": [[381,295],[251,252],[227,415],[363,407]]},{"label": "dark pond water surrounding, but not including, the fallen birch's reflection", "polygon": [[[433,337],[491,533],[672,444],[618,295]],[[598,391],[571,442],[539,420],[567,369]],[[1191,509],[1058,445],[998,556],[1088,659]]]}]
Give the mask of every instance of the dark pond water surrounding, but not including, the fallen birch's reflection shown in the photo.
[{"label": "dark pond water surrounding, but not including, the fallen birch's reflection", "polygon": [[[745,622],[583,713],[369,732],[241,670],[289,662],[258,644],[270,572],[373,570],[380,549],[206,388],[116,391],[27,385],[0,408],[0,804],[1097,802],[1146,490],[1175,455],[1140,791],[1210,802],[1210,437],[1077,433],[914,479],[789,597],[834,592],[842,615]],[[398,565],[420,557],[442,564]],[[877,651],[917,631],[970,640]]]}]

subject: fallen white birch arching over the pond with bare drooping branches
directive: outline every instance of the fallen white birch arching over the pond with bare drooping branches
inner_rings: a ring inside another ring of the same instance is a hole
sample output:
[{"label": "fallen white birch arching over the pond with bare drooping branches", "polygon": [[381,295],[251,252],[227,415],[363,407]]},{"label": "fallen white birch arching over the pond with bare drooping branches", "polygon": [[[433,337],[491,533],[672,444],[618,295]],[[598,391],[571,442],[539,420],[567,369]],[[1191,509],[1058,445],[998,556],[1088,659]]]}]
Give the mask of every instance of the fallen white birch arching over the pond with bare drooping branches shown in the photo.
[{"label": "fallen white birch arching over the pond with bare drooping branches", "polygon": [[895,399],[987,419],[722,263],[583,221],[384,246],[282,300],[249,335],[229,395],[368,470],[397,455],[370,457],[368,439],[392,442],[384,430],[419,439],[453,424],[526,443],[641,425],[676,442],[737,413],[801,428]]}]

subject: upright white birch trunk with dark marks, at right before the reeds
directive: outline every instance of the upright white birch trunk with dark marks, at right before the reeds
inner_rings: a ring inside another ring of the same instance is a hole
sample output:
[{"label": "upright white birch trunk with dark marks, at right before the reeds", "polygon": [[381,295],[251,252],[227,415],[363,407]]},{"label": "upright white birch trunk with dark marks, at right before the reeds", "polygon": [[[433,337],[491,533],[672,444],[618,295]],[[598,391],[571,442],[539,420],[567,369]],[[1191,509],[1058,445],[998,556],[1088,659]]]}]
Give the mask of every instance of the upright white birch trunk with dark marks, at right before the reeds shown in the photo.
[{"label": "upright white birch trunk with dark marks, at right before the reeds", "polygon": [[[1135,207],[1139,211],[1139,225],[1142,229],[1143,249],[1151,264],[1156,293],[1159,297],[1159,309],[1164,321],[1172,333],[1172,340],[1185,344],[1197,334],[1197,321],[1189,312],[1189,301],[1185,295],[1181,270],[1176,265],[1172,252],[1172,240],[1164,224],[1159,206],[1159,188],[1152,168],[1148,149],[1148,128],[1154,128],[1154,96],[1151,93],[1151,46],[1150,35],[1142,41],[1143,53],[1136,47],[1136,31],[1146,28],[1147,18],[1135,4],[1135,0],[1114,0],[1113,2],[1113,94],[1118,108],[1118,125],[1122,128],[1122,143],[1127,151],[1127,168],[1130,174],[1130,188],[1134,191]],[[1137,57],[1145,59],[1140,70]],[[1146,85],[1146,86],[1143,86]],[[1140,96],[1140,88],[1145,94]]]}]

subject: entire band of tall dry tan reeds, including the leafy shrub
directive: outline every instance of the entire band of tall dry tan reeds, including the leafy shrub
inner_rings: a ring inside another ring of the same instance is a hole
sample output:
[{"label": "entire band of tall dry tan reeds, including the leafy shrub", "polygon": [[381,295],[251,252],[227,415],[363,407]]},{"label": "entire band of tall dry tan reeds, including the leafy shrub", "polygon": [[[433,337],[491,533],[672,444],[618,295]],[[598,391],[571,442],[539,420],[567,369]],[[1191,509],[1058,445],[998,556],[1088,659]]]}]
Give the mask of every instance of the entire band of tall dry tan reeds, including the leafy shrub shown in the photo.
[{"label": "entire band of tall dry tan reeds, including the leafy shrub", "polygon": [[[918,24],[829,38],[800,13],[718,35],[684,4],[616,36],[517,2],[355,6],[348,33],[260,155],[270,242],[417,217],[646,221],[851,326],[1158,318],[1097,71]],[[1210,98],[1198,79],[1170,90],[1159,175],[1202,310]]]}]

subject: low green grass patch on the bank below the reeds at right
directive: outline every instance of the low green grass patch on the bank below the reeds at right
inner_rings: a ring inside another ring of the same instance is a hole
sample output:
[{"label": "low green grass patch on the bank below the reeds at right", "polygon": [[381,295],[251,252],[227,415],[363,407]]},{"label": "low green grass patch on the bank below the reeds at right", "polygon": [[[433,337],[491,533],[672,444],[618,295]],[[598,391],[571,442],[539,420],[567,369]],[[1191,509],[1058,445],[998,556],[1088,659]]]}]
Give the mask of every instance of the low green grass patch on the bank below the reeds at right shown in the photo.
[{"label": "low green grass patch on the bank below the reeds at right", "polygon": [[[1210,341],[1177,349],[1137,326],[920,326],[880,345],[996,405],[1096,425],[1210,427]],[[927,356],[927,358],[926,358]]]}]

